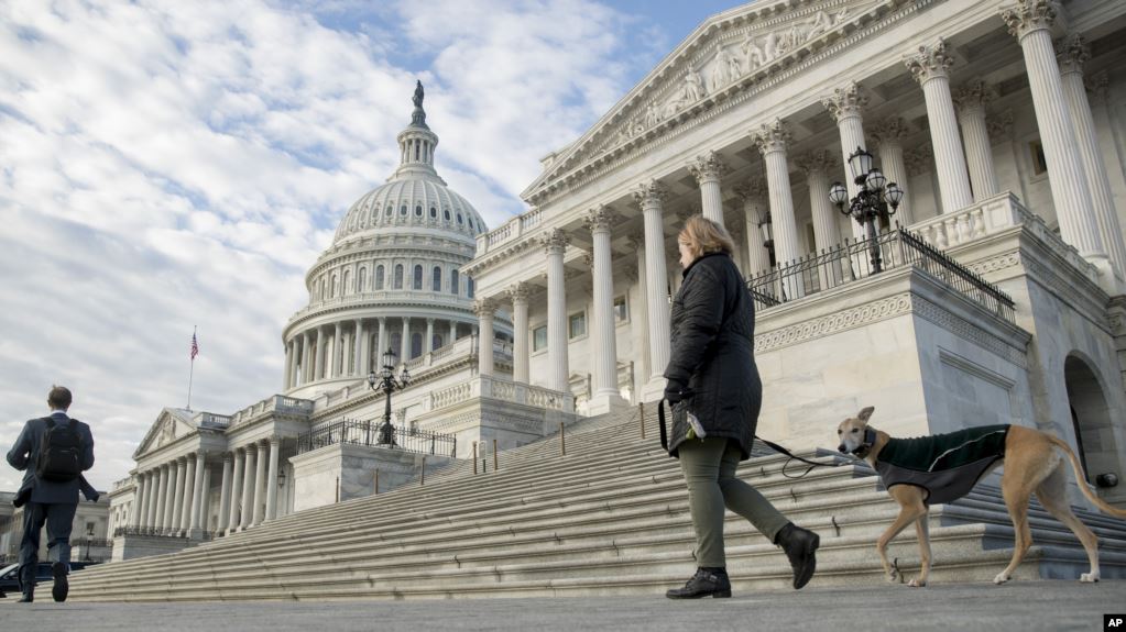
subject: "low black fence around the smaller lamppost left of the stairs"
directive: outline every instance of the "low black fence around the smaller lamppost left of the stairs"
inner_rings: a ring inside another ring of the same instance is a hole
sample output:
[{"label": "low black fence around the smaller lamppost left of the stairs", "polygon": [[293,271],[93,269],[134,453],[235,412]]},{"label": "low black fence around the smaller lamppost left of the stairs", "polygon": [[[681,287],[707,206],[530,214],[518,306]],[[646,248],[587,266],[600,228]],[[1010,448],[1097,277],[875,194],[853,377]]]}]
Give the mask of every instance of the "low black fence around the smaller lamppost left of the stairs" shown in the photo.
[{"label": "low black fence around the smaller lamppost left of the stairs", "polygon": [[342,419],[297,435],[297,453],[349,443],[368,448],[388,448],[417,454],[457,453],[457,437],[452,434],[408,428],[372,419]]}]

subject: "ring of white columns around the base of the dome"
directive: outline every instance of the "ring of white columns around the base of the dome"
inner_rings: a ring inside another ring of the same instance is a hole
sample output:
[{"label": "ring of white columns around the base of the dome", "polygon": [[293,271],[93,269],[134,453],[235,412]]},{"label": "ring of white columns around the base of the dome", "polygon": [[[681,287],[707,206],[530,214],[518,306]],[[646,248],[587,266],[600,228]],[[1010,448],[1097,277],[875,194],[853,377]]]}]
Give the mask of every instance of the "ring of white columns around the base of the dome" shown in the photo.
[{"label": "ring of white columns around the base of the dome", "polygon": [[[318,326],[294,335],[285,347],[285,378],[283,390],[296,388],[318,380],[341,377],[363,377],[373,369],[370,345],[373,336],[376,340],[375,353],[378,355],[387,347],[392,327],[400,325],[401,332],[400,361],[411,358],[411,322],[410,317],[384,317],[375,323],[356,318],[351,326],[347,322]],[[395,323],[399,320],[400,323]],[[448,342],[457,340],[456,320],[426,319],[426,337],[422,340],[422,353],[434,351],[434,335],[439,327],[448,323]],[[470,324],[472,326],[472,324]],[[331,342],[329,342],[331,341]],[[448,343],[447,343],[448,344]],[[376,360],[378,362],[378,360]]]}]

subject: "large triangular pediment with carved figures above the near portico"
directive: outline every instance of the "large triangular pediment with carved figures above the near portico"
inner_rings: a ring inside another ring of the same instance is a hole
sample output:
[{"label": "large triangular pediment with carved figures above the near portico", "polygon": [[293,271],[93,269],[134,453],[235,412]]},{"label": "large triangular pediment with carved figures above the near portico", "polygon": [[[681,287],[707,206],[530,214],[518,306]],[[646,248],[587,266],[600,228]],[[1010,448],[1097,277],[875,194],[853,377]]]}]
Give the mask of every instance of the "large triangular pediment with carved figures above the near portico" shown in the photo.
[{"label": "large triangular pediment with carved figures above the near portico", "polygon": [[778,0],[713,16],[689,35],[591,129],[545,161],[521,197],[536,205],[554,182],[652,138],[761,82],[904,0]]}]

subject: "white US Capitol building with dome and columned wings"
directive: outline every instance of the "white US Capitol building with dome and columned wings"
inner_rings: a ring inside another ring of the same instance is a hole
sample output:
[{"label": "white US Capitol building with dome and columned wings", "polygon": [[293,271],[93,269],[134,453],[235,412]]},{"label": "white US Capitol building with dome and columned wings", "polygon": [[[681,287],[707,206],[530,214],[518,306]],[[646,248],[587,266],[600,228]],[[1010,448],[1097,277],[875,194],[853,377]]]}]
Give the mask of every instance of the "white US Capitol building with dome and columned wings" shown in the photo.
[{"label": "white US Capitol building with dome and columned wings", "polygon": [[[546,156],[528,210],[492,229],[435,170],[419,87],[399,169],[306,276],[282,392],[163,409],[111,491],[114,556],[658,400],[696,213],[736,238],[756,297],[760,435],[825,446],[869,405],[902,436],[1020,424],[1121,506],[1124,69],[1114,0],[748,3]],[[366,379],[388,347],[411,376],[394,444]]]}]

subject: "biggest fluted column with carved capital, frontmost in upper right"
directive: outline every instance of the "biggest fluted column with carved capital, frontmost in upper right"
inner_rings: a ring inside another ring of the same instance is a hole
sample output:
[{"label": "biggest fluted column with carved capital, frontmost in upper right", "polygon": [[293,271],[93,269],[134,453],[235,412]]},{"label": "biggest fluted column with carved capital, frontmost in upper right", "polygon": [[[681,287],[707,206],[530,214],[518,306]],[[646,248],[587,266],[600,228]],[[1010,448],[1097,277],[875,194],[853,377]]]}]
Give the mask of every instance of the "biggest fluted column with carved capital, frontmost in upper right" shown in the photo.
[{"label": "biggest fluted column with carved capital, frontmost in upper right", "polygon": [[1052,45],[1052,25],[1060,3],[1054,0],[1019,0],[1001,11],[1009,33],[1020,42],[1033,92],[1036,124],[1048,163],[1052,201],[1060,219],[1060,235],[1089,261],[1106,269],[1109,259],[1091,213],[1091,191],[1076,150],[1075,127],[1064,98]]}]

